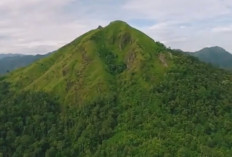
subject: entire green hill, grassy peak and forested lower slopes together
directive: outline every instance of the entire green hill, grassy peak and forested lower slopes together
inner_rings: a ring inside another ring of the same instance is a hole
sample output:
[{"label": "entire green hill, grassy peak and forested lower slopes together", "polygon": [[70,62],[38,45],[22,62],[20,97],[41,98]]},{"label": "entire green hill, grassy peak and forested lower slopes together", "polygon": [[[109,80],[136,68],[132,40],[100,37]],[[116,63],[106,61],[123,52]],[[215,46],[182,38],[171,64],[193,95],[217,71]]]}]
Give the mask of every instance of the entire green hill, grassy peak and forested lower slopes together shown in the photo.
[{"label": "entire green hill, grassy peak and forested lower slopes together", "polygon": [[122,21],[0,80],[0,156],[232,154],[232,75]]}]

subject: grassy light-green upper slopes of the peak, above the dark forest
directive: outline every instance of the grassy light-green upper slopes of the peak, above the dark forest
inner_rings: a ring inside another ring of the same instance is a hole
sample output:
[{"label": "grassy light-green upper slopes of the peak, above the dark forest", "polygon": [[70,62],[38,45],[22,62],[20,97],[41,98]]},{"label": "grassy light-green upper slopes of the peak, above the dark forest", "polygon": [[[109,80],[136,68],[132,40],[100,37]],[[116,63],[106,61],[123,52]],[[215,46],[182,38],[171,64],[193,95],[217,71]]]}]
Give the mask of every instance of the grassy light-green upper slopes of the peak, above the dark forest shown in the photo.
[{"label": "grassy light-green upper slopes of the peak, above the dark forest", "polygon": [[[99,98],[99,92],[102,97],[115,93],[113,82],[120,78],[131,81],[132,74],[141,87],[149,87],[142,77],[154,75],[158,80],[162,76],[167,67],[160,62],[158,52],[164,49],[145,34],[116,21],[106,28],[86,33],[54,55],[10,74],[8,80],[16,89],[55,93],[68,104],[94,101]],[[162,55],[164,58],[167,55],[168,62],[169,54]],[[146,73],[145,69],[148,69]]]}]

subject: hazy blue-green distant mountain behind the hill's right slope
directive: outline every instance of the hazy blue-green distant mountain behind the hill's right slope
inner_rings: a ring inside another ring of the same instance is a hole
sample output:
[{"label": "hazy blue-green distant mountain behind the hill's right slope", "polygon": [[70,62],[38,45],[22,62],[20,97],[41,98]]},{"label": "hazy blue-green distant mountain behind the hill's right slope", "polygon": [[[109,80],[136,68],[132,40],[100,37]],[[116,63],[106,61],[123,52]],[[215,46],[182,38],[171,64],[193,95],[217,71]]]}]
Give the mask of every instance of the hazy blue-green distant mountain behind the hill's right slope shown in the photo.
[{"label": "hazy blue-green distant mountain behind the hill's right slope", "polygon": [[201,61],[211,63],[220,68],[232,69],[232,54],[221,47],[203,48],[190,54],[198,57]]}]

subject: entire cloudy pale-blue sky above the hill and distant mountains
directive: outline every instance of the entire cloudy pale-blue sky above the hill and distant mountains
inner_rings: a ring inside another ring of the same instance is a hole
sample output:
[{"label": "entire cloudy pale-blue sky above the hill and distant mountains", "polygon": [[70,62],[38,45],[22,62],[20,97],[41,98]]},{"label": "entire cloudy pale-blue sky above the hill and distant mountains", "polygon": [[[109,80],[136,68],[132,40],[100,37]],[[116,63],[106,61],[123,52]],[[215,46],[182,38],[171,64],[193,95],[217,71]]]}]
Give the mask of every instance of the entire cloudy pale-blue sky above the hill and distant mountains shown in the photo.
[{"label": "entire cloudy pale-blue sky above the hill and distant mountains", "polygon": [[1,0],[0,53],[47,53],[123,20],[166,46],[232,52],[231,0]]}]

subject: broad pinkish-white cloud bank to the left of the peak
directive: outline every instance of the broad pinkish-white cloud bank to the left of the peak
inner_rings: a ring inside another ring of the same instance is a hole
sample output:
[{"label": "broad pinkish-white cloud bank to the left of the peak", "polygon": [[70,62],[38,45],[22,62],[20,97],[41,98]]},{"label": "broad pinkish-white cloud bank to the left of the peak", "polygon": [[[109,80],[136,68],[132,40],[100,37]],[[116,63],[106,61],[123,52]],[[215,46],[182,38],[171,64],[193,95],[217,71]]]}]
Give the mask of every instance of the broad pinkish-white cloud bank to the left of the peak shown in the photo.
[{"label": "broad pinkish-white cloud bank to the left of the peak", "polygon": [[84,18],[73,20],[65,11],[72,2],[1,0],[0,53],[47,53],[91,29]]}]

